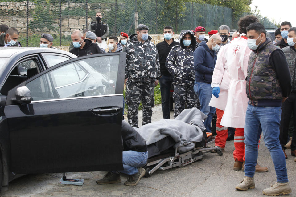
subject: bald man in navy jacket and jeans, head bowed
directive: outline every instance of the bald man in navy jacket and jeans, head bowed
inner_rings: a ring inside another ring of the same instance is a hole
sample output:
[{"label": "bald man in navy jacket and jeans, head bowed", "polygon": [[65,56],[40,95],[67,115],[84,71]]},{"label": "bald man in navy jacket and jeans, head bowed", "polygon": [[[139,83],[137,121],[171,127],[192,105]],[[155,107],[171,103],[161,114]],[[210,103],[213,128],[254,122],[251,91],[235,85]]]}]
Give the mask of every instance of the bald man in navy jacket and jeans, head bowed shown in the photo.
[{"label": "bald man in navy jacket and jeans, head bowed", "polygon": [[220,49],[221,43],[222,38],[214,34],[208,42],[201,42],[193,53],[195,69],[193,89],[199,97],[200,111],[208,116],[204,122],[207,132],[211,132],[211,121],[216,111],[214,107],[209,106],[209,103],[212,98],[211,83],[217,60],[216,50]]}]

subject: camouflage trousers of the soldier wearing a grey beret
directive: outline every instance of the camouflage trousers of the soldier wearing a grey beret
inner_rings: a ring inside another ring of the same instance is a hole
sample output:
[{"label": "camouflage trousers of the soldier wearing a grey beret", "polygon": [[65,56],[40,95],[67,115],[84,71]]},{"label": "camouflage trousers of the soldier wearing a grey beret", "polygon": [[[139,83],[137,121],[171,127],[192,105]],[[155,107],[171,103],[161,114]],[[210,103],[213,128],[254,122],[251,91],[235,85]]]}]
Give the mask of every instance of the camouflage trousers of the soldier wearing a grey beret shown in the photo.
[{"label": "camouflage trousers of the soldier wearing a grey beret", "polygon": [[142,125],[151,123],[152,106],[154,105],[154,82],[132,82],[125,84],[125,104],[128,106],[127,119],[132,127],[138,127],[138,107],[142,101]]}]

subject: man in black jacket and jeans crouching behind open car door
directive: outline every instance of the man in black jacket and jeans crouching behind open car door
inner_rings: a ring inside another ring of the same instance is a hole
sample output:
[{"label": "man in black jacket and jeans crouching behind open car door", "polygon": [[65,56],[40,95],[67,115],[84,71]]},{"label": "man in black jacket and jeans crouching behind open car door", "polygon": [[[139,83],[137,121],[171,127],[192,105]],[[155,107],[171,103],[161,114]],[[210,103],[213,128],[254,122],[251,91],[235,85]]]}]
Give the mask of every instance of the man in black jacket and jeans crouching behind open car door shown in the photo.
[{"label": "man in black jacket and jeans crouching behind open car door", "polygon": [[121,171],[109,171],[102,179],[97,180],[97,184],[121,183],[120,173],[129,175],[125,185],[137,185],[140,179],[145,175],[145,169],[148,159],[148,148],[142,136],[128,123],[122,121],[121,135],[123,143]]}]

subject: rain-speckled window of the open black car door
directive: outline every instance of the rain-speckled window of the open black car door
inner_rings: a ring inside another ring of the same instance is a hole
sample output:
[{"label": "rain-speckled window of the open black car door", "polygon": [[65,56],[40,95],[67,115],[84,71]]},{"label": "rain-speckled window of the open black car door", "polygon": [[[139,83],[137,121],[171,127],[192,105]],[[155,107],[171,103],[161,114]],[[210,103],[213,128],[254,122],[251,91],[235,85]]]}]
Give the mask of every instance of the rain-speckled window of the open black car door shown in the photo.
[{"label": "rain-speckled window of the open black car door", "polygon": [[119,55],[60,66],[26,84],[33,101],[115,94]]}]

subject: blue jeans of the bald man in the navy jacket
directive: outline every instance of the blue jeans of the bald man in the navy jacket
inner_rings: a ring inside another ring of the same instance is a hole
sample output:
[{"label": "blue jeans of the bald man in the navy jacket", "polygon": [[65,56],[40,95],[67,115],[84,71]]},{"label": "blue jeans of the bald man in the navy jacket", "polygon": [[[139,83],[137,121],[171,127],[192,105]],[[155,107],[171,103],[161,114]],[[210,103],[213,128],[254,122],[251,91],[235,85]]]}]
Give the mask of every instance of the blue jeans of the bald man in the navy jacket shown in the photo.
[{"label": "blue jeans of the bald man in the navy jacket", "polygon": [[207,119],[204,121],[204,126],[207,132],[211,132],[211,121],[212,117],[216,112],[215,107],[209,106],[210,100],[212,98],[212,87],[209,83],[194,82],[194,92],[198,95],[200,102],[200,111],[207,115]]}]

